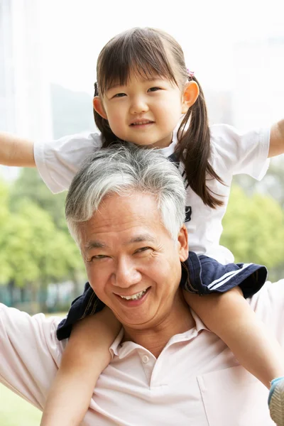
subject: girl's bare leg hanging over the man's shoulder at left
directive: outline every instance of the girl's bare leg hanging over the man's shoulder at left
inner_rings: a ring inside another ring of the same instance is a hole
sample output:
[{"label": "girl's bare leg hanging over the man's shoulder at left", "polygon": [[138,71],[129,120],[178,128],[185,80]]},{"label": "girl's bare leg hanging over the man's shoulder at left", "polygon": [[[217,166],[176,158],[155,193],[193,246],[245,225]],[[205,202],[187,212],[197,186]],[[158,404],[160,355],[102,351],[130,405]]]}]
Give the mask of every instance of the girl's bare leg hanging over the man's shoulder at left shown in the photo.
[{"label": "girl's bare leg hanging over the man's shoulder at left", "polygon": [[111,361],[109,346],[120,328],[108,307],[75,324],[50,388],[41,426],[80,425],[97,379]]}]

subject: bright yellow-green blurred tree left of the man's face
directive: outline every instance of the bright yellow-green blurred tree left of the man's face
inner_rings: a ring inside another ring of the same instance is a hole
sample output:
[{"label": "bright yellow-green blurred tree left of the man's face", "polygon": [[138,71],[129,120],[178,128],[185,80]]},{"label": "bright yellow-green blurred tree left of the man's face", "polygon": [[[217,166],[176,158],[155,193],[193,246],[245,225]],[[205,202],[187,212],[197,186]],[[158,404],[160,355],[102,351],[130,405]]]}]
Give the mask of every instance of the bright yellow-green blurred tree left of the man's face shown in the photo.
[{"label": "bright yellow-green blurred tree left of the man's face", "polygon": [[50,214],[30,200],[18,203],[1,229],[0,252],[6,273],[2,279],[40,292],[45,307],[48,283],[74,279],[84,270],[80,252],[71,237],[57,229]]}]

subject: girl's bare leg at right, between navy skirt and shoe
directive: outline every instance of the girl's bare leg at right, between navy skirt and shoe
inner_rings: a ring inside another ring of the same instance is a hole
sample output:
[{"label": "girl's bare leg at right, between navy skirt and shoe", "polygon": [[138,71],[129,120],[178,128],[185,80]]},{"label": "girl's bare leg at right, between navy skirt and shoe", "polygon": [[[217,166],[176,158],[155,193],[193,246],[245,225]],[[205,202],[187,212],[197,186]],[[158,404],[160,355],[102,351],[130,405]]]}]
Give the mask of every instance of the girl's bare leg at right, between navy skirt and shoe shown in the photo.
[{"label": "girl's bare leg at right, between navy skirt and shoe", "polygon": [[183,294],[204,324],[268,389],[274,378],[284,376],[283,349],[253,312],[240,288],[202,297],[185,291]]}]

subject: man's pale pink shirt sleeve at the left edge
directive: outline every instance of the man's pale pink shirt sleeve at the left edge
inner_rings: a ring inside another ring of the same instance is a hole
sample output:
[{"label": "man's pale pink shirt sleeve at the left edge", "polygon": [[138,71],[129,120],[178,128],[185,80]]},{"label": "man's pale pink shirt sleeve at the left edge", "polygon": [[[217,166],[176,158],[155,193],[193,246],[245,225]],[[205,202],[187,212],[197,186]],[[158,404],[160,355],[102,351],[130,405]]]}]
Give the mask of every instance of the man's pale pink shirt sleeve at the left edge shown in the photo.
[{"label": "man's pale pink shirt sleeve at the left edge", "polygon": [[0,381],[40,410],[64,347],[56,339],[59,322],[0,304]]}]

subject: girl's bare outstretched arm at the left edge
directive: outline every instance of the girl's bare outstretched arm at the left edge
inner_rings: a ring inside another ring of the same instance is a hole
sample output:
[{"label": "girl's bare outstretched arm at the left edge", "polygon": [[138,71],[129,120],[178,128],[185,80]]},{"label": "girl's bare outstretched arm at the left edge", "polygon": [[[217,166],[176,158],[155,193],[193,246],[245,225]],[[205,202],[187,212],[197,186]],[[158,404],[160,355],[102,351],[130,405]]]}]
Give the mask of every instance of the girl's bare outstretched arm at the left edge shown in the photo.
[{"label": "girl's bare outstretched arm at the left edge", "polygon": [[33,141],[0,132],[0,164],[35,167]]}]

